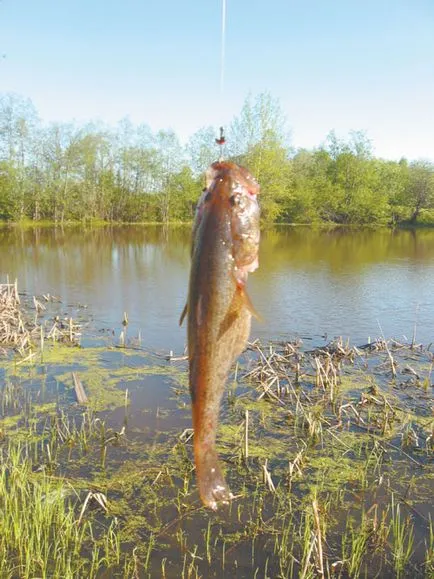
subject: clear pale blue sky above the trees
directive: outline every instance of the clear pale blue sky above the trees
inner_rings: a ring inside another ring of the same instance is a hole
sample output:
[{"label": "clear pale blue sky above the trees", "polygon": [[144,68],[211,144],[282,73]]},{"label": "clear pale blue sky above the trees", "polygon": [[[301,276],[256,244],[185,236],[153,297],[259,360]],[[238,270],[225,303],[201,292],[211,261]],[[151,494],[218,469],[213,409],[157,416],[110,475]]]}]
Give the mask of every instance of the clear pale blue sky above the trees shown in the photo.
[{"label": "clear pale blue sky above the trees", "polygon": [[383,158],[434,160],[434,0],[0,0],[0,92],[43,121],[124,117],[185,141],[249,94],[295,148],[365,131]]}]

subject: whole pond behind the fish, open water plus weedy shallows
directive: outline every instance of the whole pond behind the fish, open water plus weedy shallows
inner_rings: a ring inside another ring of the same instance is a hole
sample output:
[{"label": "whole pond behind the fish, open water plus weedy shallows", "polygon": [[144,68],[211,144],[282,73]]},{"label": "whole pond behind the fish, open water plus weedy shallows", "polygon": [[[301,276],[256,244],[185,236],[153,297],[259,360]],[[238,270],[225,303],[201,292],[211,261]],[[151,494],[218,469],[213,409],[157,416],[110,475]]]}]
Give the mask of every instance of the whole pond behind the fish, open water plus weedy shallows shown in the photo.
[{"label": "whole pond behind the fish, open water plus weedy shallows", "polygon": [[[217,513],[192,461],[189,254],[187,226],[0,229],[32,336],[0,344],[0,576],[432,577],[434,230],[263,231]],[[82,347],[50,340],[74,342],[65,317]]]}]

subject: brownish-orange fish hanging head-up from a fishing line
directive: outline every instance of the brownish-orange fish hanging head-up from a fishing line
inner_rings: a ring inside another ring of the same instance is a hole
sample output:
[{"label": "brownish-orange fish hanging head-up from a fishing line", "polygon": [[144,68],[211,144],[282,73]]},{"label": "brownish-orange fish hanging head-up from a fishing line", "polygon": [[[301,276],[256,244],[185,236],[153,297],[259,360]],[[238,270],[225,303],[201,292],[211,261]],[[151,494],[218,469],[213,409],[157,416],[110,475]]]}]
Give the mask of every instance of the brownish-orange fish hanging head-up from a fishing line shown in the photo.
[{"label": "brownish-orange fish hanging head-up from a fishing line", "polygon": [[233,495],[216,451],[220,403],[234,361],[244,350],[252,315],[248,274],[258,267],[259,184],[229,161],[213,163],[196,209],[186,307],[189,388],[196,480],[212,510]]}]

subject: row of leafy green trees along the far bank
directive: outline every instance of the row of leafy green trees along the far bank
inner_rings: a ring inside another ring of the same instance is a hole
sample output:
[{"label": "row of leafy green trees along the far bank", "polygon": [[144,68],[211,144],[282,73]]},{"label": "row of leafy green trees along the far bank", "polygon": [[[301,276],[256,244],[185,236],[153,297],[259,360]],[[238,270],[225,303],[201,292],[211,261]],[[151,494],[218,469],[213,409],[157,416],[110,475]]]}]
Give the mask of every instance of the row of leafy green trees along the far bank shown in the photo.
[{"label": "row of leafy green trees along the far bank", "polygon": [[[226,133],[225,158],[259,181],[266,222],[434,224],[429,160],[377,158],[357,131],[294,150],[268,93],[249,96]],[[171,130],[128,119],[43,124],[30,100],[0,94],[0,220],[189,221],[219,155],[215,137],[205,127],[183,145]]]}]

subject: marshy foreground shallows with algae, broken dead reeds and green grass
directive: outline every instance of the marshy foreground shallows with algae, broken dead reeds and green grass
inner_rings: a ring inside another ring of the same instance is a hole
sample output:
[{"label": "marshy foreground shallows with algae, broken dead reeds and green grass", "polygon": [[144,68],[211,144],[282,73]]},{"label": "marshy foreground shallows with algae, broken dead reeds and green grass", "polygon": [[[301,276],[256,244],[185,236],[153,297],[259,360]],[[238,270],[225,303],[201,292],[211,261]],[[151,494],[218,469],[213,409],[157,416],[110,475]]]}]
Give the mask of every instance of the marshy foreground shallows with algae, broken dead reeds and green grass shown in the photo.
[{"label": "marshy foreground shallows with algae, broken dead reeds and green grass", "polygon": [[[33,324],[43,298],[20,298]],[[34,356],[3,342],[2,577],[433,576],[430,346],[250,344],[218,441],[236,497],[212,513],[185,358],[143,350],[126,326],[88,338],[34,334]]]}]

